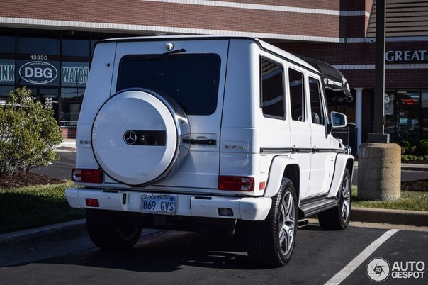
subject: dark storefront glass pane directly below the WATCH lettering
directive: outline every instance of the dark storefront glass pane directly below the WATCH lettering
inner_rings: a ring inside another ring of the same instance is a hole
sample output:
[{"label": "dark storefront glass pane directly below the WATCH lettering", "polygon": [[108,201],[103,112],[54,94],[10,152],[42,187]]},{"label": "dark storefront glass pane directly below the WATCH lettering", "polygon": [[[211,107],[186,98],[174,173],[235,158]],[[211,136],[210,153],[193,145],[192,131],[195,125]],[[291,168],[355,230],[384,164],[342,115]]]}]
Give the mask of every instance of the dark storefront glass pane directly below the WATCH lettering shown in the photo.
[{"label": "dark storefront glass pane directly below the WATCH lettering", "polygon": [[83,101],[84,88],[61,89],[61,121],[62,127],[74,127],[77,125],[81,102]]}]

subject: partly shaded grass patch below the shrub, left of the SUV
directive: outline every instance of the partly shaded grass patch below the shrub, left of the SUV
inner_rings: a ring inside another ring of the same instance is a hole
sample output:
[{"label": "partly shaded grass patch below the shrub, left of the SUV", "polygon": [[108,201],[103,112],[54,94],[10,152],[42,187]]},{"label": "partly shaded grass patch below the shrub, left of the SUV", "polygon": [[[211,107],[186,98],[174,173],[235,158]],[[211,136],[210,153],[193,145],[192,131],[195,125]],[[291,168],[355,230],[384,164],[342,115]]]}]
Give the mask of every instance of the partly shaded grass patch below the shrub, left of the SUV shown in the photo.
[{"label": "partly shaded grass patch below the shrub, left of the SUV", "polygon": [[65,199],[65,189],[72,186],[66,182],[0,189],[0,233],[83,218],[84,211],[71,208]]}]

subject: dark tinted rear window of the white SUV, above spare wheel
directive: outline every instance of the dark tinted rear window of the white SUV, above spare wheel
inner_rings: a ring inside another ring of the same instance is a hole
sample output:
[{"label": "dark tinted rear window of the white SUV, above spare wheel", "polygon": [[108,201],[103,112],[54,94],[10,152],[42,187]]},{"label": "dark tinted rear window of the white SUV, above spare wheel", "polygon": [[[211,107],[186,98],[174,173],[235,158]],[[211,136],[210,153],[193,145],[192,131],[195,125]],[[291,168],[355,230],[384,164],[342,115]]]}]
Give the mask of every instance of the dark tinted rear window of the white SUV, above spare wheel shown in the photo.
[{"label": "dark tinted rear window of the white SUV, above spare wheel", "polygon": [[218,55],[129,55],[120,60],[116,91],[149,89],[174,99],[187,115],[210,115],[219,78]]}]

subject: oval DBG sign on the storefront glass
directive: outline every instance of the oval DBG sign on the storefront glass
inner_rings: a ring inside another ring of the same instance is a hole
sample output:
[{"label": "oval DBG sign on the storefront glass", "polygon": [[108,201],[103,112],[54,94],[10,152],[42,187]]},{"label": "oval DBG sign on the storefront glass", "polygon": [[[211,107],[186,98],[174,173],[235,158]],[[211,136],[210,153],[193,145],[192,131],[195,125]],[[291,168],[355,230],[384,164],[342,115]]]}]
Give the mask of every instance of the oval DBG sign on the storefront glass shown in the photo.
[{"label": "oval DBG sign on the storefront glass", "polygon": [[19,76],[31,84],[47,84],[57,78],[58,71],[47,62],[27,62],[19,69]]}]

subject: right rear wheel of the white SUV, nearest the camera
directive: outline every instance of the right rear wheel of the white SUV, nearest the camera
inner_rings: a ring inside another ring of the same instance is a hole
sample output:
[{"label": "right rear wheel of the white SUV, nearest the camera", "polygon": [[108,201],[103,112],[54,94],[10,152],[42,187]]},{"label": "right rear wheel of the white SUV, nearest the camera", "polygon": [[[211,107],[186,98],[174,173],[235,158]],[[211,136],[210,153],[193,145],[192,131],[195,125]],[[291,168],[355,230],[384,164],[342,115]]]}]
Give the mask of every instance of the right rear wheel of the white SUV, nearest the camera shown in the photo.
[{"label": "right rear wheel of the white SUV, nearest the camera", "polygon": [[247,252],[267,267],[282,267],[293,255],[297,233],[297,195],[293,183],[283,179],[271,211],[262,222],[249,223]]}]

